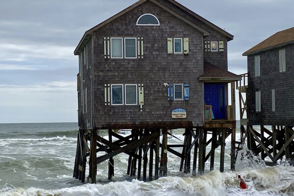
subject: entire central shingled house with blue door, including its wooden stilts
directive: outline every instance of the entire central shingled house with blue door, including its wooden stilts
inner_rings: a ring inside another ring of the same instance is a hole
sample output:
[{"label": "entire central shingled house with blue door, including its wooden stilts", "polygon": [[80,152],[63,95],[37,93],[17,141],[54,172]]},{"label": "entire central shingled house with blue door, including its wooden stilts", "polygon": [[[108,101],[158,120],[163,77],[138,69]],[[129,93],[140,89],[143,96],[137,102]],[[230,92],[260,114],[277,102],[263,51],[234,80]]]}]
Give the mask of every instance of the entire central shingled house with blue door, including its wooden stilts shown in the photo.
[{"label": "entire central shingled house with blue door, including its wooden stilts", "polygon": [[[97,167],[108,161],[112,178],[113,157],[120,153],[129,155],[126,172],[138,179],[165,176],[167,153],[181,158],[180,171],[202,173],[209,159],[214,169],[218,147],[223,171],[227,137],[234,169],[234,89],[241,77],[228,71],[231,40],[233,35],[175,0],[139,0],[87,30],[74,51],[80,66],[74,177],[84,182],[88,165],[87,181],[95,183]],[[167,144],[167,135],[179,128],[184,143]],[[132,134],[123,137],[118,129]],[[108,130],[108,139],[99,130]]]}]

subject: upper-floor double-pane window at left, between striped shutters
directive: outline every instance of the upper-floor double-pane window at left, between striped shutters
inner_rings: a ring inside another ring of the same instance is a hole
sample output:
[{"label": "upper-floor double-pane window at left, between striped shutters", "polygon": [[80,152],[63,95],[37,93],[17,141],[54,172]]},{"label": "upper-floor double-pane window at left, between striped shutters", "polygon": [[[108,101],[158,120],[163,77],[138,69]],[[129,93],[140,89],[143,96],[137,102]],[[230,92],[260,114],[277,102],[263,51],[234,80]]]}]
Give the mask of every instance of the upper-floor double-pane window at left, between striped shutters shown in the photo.
[{"label": "upper-floor double-pane window at left, between striped shutters", "polygon": [[134,37],[128,37],[125,39],[122,37],[111,37],[111,58],[137,58],[136,40],[137,39]]}]

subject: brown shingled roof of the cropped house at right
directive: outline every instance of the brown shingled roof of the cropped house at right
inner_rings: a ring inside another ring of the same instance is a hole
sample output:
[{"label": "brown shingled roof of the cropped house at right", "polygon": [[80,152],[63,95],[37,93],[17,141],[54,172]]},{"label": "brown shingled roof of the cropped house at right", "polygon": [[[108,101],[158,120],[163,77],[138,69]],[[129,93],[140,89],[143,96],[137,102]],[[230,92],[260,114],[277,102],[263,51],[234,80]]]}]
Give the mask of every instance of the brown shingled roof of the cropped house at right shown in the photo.
[{"label": "brown shingled roof of the cropped house at right", "polygon": [[279,31],[271,35],[266,40],[260,42],[259,44],[249,49],[242,55],[249,56],[255,53],[271,50],[274,48],[282,47],[287,44],[293,44],[293,43],[294,43],[294,27]]}]

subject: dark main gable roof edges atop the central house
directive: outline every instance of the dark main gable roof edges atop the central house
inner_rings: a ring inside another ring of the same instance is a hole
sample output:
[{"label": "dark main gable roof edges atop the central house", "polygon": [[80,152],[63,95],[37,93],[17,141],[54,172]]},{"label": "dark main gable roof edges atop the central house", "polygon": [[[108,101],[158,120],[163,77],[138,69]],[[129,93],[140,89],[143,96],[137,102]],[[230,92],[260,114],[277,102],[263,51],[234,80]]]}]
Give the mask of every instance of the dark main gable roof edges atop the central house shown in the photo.
[{"label": "dark main gable roof edges atop the central house", "polygon": [[[115,14],[114,16],[108,18],[107,20],[105,20],[104,22],[98,24],[97,26],[90,28],[89,30],[87,30],[82,39],[80,40],[79,45],[77,46],[77,48],[74,51],[75,55],[79,55],[82,48],[85,46],[85,44],[88,42],[88,40],[90,39],[91,35],[93,34],[93,31],[105,26],[106,24],[110,23],[111,21],[115,20],[116,18],[122,16],[123,14],[127,13],[128,11],[134,9],[135,7],[137,7],[138,5],[142,4],[143,2],[145,2],[147,0],[139,0],[137,2],[135,2],[133,5],[127,7],[126,9],[122,10],[121,12]],[[192,26],[193,28],[198,29],[199,31],[203,32],[204,36],[209,36],[210,32],[205,30],[204,28],[199,27],[198,25],[196,25],[195,23],[189,21],[187,18],[185,18],[184,16],[178,14],[177,12],[173,11],[172,9],[166,7],[165,5],[163,5],[162,3],[160,3],[159,0],[148,0],[150,2],[153,2],[155,4],[157,4],[158,6],[160,6],[161,8],[163,8],[164,10],[168,11],[170,14],[174,15],[175,17],[179,18],[180,20],[186,22],[188,25]],[[187,7],[183,6],[182,4],[178,3],[175,0],[168,0],[169,2],[171,2],[172,4],[174,4],[175,6],[183,9],[184,11],[186,11],[187,13],[191,14],[192,16],[194,16],[195,18],[197,18],[198,20],[202,21],[203,23],[207,24],[208,26],[212,27],[213,29],[215,29],[216,31],[219,31],[221,34],[225,35],[228,39],[228,41],[233,39],[233,35],[231,35],[230,33],[226,32],[225,30],[217,27],[216,25],[214,25],[213,23],[209,22],[208,20],[202,18],[201,16],[197,15],[196,13],[194,13],[193,11],[189,10]]]}]

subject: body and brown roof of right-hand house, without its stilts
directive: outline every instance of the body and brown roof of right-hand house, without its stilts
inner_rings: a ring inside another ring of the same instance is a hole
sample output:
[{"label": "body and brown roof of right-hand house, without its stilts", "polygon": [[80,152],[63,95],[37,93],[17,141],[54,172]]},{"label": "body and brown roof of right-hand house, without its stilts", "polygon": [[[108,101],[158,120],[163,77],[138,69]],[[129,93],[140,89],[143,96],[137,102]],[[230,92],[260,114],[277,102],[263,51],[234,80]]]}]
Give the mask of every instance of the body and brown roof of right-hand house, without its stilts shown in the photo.
[{"label": "body and brown roof of right-hand house, without its stilts", "polygon": [[249,49],[249,125],[294,126],[294,28]]}]

